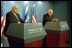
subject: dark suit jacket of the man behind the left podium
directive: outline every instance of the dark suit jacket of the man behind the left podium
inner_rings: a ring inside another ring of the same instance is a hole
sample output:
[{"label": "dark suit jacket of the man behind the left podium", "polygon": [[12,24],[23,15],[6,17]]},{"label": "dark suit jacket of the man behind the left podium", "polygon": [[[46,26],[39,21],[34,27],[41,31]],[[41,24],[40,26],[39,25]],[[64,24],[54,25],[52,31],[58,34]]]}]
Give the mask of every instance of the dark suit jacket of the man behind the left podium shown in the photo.
[{"label": "dark suit jacket of the man behind the left podium", "polygon": [[[18,20],[19,20],[21,23],[24,23],[24,20],[20,18],[20,15],[19,15],[18,13],[17,13],[16,15],[17,15],[17,17],[18,17]],[[6,14],[6,26],[5,26],[5,29],[4,29],[4,35],[5,35],[5,33],[6,33],[6,30],[7,30],[8,26],[9,26],[9,24],[10,24],[10,23],[18,23],[18,20],[17,20],[16,16],[13,14],[12,11],[10,11],[10,12],[8,12],[8,13]]]}]

